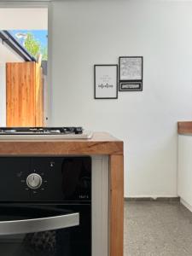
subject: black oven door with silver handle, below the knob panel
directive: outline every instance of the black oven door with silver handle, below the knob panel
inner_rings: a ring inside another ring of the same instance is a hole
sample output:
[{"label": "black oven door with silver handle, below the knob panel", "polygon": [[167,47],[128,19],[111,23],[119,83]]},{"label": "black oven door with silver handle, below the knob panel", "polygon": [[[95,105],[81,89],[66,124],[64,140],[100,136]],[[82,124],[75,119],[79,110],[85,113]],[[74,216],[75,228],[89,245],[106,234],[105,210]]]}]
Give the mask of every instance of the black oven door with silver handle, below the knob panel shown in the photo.
[{"label": "black oven door with silver handle, below the knob panel", "polygon": [[90,205],[0,205],[1,256],[90,256]]}]

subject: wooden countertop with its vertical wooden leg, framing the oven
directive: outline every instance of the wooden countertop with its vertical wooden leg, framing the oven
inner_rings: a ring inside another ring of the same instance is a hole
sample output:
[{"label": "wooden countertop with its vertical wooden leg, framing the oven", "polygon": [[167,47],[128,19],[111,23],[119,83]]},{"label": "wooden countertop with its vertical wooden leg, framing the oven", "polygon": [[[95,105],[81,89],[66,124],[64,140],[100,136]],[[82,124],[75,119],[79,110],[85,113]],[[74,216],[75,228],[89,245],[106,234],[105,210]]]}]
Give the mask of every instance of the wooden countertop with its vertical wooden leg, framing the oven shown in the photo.
[{"label": "wooden countertop with its vertical wooden leg, framing the oven", "polygon": [[123,256],[124,163],[122,141],[105,132],[96,132],[88,140],[0,141],[0,155],[108,156],[108,255]]}]

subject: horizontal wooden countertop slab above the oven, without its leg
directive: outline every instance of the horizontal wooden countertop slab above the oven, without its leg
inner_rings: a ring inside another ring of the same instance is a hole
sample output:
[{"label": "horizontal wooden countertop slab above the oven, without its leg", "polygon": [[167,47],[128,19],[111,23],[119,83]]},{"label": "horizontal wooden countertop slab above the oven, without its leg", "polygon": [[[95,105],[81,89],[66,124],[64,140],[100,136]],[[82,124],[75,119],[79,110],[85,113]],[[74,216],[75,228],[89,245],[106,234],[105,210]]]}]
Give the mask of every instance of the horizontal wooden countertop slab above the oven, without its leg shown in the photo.
[{"label": "horizontal wooden countertop slab above the oven, without its leg", "polygon": [[7,154],[123,154],[123,142],[107,132],[95,132],[88,140],[0,140],[0,155]]}]

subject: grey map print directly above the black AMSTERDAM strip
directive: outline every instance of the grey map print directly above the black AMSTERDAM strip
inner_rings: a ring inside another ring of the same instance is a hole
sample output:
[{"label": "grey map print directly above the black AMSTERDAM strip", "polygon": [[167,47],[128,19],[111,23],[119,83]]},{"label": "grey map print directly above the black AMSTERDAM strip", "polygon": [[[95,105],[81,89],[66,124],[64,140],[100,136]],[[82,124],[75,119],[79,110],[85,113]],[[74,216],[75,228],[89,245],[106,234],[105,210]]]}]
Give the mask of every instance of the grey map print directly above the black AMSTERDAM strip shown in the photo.
[{"label": "grey map print directly above the black AMSTERDAM strip", "polygon": [[143,56],[119,57],[119,81],[143,80]]}]

